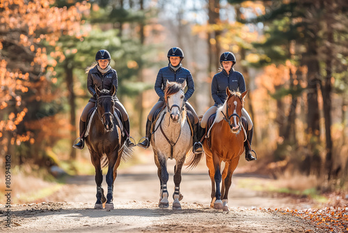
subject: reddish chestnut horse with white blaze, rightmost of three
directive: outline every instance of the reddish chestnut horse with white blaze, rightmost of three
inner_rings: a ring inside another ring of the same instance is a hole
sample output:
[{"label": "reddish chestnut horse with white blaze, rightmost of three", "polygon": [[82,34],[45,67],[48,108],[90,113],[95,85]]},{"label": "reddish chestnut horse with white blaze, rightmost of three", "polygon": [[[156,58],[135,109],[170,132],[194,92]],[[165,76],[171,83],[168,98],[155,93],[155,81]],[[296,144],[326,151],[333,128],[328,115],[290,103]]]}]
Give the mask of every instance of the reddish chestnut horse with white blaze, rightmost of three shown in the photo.
[{"label": "reddish chestnut horse with white blaze, rightmost of three", "polygon": [[[244,97],[248,91],[239,93],[230,91],[227,87],[226,93],[228,97],[225,103],[216,110],[216,118],[208,132],[210,137],[203,141],[206,164],[212,181],[210,206],[214,209],[223,209],[223,211],[229,211],[228,190],[232,183],[232,174],[239,163],[239,156],[244,152],[246,131],[242,128],[241,117]],[[202,158],[202,154],[195,155],[189,166],[196,167],[200,158]],[[221,162],[225,162],[222,175]]]}]

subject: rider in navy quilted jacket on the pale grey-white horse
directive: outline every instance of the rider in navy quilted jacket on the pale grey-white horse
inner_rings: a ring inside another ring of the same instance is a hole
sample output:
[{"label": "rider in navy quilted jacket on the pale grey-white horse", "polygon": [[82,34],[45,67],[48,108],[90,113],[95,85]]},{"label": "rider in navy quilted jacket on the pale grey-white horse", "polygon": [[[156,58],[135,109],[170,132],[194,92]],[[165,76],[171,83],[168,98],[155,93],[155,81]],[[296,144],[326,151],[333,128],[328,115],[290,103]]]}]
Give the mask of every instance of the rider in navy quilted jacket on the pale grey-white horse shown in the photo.
[{"label": "rider in navy quilted jacket on the pale grey-white horse", "polygon": [[182,59],[184,59],[184,52],[180,47],[172,47],[167,54],[169,63],[168,66],[161,68],[157,74],[155,82],[155,91],[159,96],[158,102],[152,107],[152,110],[148,114],[148,121],[146,121],[146,136],[143,142],[140,142],[138,146],[141,146],[143,149],[147,149],[150,146],[151,139],[151,120],[153,114],[157,109],[162,107],[165,103],[164,100],[164,89],[166,88],[167,80],[169,82],[178,82],[183,83],[184,80],[187,82],[187,91],[184,96],[185,106],[187,110],[191,111],[194,117],[194,126],[193,126],[193,153],[202,153],[203,147],[198,140],[198,129],[199,129],[199,119],[196,114],[196,111],[193,110],[193,107],[189,103],[189,98],[192,96],[195,86],[193,83],[193,78],[190,71],[187,68],[182,67]]}]

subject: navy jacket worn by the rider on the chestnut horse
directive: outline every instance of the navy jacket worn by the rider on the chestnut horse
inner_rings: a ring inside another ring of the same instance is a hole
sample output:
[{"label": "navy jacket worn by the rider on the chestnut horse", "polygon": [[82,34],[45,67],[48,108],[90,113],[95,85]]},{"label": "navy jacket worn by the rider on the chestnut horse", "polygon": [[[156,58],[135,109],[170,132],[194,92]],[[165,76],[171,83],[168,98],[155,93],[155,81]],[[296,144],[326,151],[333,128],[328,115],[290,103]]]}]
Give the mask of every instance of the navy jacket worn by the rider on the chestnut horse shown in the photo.
[{"label": "navy jacket worn by the rider on the chestnut horse", "polygon": [[245,81],[242,73],[235,70],[230,70],[228,75],[226,70],[222,70],[220,73],[214,75],[212,80],[212,98],[215,105],[222,105],[227,98],[226,87],[231,91],[237,91],[242,93],[245,91]]}]

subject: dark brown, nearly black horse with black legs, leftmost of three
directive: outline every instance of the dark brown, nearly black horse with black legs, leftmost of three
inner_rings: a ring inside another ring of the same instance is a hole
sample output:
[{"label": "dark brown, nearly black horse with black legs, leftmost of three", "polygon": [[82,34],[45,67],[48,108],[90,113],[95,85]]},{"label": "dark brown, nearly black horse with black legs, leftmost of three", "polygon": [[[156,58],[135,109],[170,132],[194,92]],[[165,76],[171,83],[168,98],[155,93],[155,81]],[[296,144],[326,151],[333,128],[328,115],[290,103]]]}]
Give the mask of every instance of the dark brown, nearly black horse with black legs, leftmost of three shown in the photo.
[{"label": "dark brown, nearly black horse with black legs, leftmost of three", "polygon": [[[116,87],[113,85],[111,90],[100,91],[95,86],[95,92],[97,93],[95,114],[90,119],[90,131],[86,137],[90,160],[95,167],[95,183],[97,184],[97,202],[94,209],[103,209],[105,202],[105,209],[113,209],[113,183],[117,176],[117,168],[121,158],[130,156],[132,149],[126,146],[127,135],[122,133],[121,121],[116,119],[113,100]],[[108,191],[105,197],[102,188],[102,167],[106,165],[109,167],[106,174]]]}]

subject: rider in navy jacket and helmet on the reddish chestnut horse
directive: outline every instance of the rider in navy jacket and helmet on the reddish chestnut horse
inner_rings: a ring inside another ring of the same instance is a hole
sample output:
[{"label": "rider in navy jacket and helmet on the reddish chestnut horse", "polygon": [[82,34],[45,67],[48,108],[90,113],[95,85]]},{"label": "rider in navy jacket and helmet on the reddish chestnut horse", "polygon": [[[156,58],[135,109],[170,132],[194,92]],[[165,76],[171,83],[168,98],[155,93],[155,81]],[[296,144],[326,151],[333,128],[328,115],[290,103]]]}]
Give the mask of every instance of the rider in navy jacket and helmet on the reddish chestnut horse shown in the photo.
[{"label": "rider in navy jacket and helmet on the reddish chestnut horse", "polygon": [[[205,128],[207,127],[207,121],[209,117],[216,113],[216,109],[219,105],[223,105],[227,98],[226,87],[228,87],[231,91],[240,91],[243,93],[245,91],[245,80],[242,73],[235,71],[233,66],[235,66],[236,57],[232,52],[224,52],[220,56],[220,64],[221,67],[219,70],[221,72],[216,73],[212,80],[212,98],[214,99],[215,104],[205,112],[203,115],[202,121],[200,121],[200,135],[201,139],[205,133]],[[251,117],[248,112],[243,108],[242,109],[242,117],[245,117],[248,121],[248,137],[247,140],[251,145],[251,140],[253,139],[253,121],[251,121]],[[256,158],[252,155],[251,147],[248,146],[248,142],[244,142],[245,148],[245,158],[247,161],[256,160]]]}]

